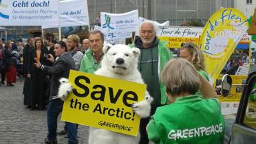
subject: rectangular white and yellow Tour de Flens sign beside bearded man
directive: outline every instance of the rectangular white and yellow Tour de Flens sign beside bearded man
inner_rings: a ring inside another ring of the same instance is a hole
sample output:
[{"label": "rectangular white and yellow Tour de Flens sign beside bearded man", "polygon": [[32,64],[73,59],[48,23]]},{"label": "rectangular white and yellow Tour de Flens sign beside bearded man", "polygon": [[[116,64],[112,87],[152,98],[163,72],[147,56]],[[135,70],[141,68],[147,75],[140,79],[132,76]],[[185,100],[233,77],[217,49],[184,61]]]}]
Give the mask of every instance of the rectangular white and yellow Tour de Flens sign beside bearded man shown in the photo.
[{"label": "rectangular white and yellow Tour de Flens sign beside bearded man", "polygon": [[180,49],[182,43],[195,43],[199,45],[202,27],[169,27],[162,26],[158,29],[157,36],[160,40],[167,41],[167,47]]}]

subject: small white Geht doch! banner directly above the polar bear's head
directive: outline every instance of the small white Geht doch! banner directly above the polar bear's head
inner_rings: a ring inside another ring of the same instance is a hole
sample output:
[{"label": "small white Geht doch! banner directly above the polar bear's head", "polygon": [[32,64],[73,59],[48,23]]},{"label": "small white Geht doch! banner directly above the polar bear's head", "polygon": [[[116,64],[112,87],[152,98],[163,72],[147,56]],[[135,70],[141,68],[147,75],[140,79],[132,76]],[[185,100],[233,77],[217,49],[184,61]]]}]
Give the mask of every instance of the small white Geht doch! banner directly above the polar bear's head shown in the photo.
[{"label": "small white Geht doch! banner directly above the polar bear's head", "polygon": [[112,32],[136,32],[138,10],[122,14],[100,12],[100,24],[104,34]]}]

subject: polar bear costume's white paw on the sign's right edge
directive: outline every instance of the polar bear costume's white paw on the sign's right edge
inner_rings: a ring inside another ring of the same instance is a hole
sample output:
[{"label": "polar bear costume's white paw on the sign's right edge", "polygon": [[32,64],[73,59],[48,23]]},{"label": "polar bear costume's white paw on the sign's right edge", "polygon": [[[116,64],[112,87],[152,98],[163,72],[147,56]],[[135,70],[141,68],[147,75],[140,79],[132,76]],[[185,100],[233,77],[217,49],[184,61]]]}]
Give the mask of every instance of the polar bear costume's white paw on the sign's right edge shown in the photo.
[{"label": "polar bear costume's white paw on the sign's right edge", "polygon": [[142,101],[132,105],[134,112],[139,115],[141,118],[149,117],[151,110],[151,102],[153,97],[147,95]]}]

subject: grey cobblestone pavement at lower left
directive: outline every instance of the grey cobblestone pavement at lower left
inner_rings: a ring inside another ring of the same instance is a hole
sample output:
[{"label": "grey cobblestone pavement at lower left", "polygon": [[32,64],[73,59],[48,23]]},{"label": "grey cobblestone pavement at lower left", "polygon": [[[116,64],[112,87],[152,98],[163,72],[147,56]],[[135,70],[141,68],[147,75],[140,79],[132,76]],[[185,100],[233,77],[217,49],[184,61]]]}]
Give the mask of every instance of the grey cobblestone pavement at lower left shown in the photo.
[{"label": "grey cobblestone pavement at lower left", "polygon": [[[21,96],[23,78],[14,86],[0,86],[0,144],[44,143],[47,134],[46,110],[30,110],[23,105]],[[58,131],[64,122],[58,121]],[[79,143],[87,144],[88,128],[78,126]],[[65,144],[65,136],[58,136],[58,143]]]}]

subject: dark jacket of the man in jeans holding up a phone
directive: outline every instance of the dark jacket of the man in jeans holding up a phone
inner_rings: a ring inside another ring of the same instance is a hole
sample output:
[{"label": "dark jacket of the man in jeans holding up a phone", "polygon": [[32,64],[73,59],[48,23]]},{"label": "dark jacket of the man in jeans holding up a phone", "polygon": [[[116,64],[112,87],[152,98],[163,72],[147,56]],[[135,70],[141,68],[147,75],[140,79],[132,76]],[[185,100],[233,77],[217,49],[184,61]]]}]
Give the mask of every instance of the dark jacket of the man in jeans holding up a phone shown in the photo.
[{"label": "dark jacket of the man in jeans holding up a phone", "polygon": [[68,53],[64,53],[60,56],[52,67],[44,66],[41,70],[44,73],[52,74],[51,84],[50,84],[50,97],[58,95],[58,87],[60,82],[58,80],[61,77],[68,78],[70,75],[70,70],[76,69],[76,65],[72,57]]}]

